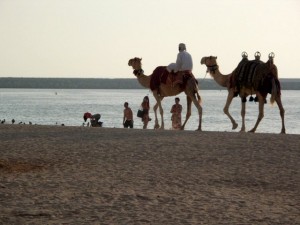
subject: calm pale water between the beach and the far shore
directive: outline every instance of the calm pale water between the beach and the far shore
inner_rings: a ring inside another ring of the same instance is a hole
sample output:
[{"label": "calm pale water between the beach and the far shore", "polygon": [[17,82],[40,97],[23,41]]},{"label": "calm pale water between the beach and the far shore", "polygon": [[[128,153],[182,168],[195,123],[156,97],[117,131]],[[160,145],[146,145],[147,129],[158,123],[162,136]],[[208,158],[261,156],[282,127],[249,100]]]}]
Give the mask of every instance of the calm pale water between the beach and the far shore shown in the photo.
[{"label": "calm pale water between the beach and the far shore", "polygon": [[[100,113],[104,127],[122,127],[123,104],[129,102],[134,112],[134,128],[141,129],[142,122],[136,117],[136,112],[145,95],[150,97],[151,107],[155,100],[146,89],[0,89],[0,119],[5,123],[31,122],[39,125],[82,126],[83,113]],[[203,103],[202,129],[204,131],[232,131],[231,123],[223,113],[223,107],[227,96],[226,90],[200,90]],[[186,99],[184,94],[179,95],[183,106],[183,118],[186,113]],[[286,131],[290,134],[300,134],[300,91],[282,91],[282,101],[285,108]],[[171,127],[170,109],[174,104],[174,97],[163,100],[165,129]],[[230,112],[241,127],[240,99],[235,98]],[[247,102],[246,129],[251,129],[257,119],[258,104]],[[150,117],[154,118],[153,110]],[[186,125],[186,130],[195,130],[198,124],[197,110],[192,106],[192,116]],[[149,123],[149,129],[153,129],[154,119]],[[261,121],[258,133],[279,133],[281,121],[276,104],[265,105],[265,117]]]}]

